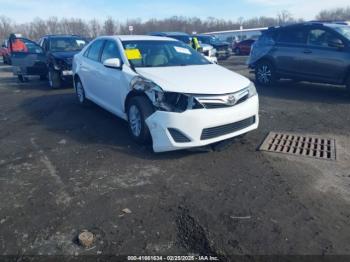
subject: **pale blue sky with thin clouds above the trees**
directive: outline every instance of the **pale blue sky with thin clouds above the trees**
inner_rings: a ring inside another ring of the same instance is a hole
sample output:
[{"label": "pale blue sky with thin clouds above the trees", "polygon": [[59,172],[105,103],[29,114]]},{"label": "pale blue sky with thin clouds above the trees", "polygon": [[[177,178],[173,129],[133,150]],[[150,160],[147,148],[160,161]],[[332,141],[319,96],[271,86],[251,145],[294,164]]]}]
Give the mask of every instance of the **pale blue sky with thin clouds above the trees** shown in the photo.
[{"label": "pale blue sky with thin clouds above the trees", "polygon": [[288,10],[296,18],[313,19],[322,9],[346,6],[349,0],[0,0],[0,15],[18,22],[50,16],[100,20],[111,16],[124,21],[182,15],[236,20],[274,17]]}]

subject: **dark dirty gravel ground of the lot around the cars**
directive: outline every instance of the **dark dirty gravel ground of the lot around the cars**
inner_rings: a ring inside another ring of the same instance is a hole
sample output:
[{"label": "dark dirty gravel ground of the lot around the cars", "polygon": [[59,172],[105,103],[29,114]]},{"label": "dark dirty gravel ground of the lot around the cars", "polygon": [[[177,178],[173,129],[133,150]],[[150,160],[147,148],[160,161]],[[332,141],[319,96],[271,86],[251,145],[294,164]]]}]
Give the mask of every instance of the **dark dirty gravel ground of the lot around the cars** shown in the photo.
[{"label": "dark dirty gravel ground of the lot around the cars", "polygon": [[[252,77],[244,62],[224,65]],[[73,89],[19,83],[0,62],[0,253],[350,255],[345,88],[258,92],[257,131],[220,152],[154,154]],[[258,151],[270,131],[335,138],[337,160]],[[97,237],[90,249],[76,242],[84,229]]]}]

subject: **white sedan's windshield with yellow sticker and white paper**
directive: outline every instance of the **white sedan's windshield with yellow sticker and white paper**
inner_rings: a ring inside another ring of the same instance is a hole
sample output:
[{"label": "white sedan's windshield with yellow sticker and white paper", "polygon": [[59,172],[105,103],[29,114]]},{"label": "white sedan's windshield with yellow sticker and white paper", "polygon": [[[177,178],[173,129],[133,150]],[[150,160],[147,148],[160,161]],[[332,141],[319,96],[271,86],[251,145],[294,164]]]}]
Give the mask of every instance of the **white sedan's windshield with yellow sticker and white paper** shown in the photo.
[{"label": "white sedan's windshield with yellow sticker and white paper", "polygon": [[124,41],[123,45],[126,56],[134,67],[210,64],[203,55],[178,41]]}]

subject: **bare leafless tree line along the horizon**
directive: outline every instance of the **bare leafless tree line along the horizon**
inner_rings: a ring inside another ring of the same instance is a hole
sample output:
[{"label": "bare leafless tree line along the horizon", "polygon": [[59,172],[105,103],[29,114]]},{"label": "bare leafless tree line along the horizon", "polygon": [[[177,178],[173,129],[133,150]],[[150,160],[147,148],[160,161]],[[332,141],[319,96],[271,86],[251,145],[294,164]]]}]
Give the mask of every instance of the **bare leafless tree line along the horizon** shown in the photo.
[{"label": "bare leafless tree line along the horizon", "polygon": [[[350,20],[350,7],[321,11],[318,20]],[[79,18],[51,17],[48,19],[35,18],[28,23],[16,23],[11,18],[0,15],[0,40],[6,39],[10,33],[20,33],[33,40],[47,34],[76,34],[88,38],[100,35],[129,34],[129,25],[134,28],[134,34],[147,34],[155,31],[181,31],[181,32],[212,32],[224,30],[238,30],[243,28],[269,27],[288,23],[302,22],[294,18],[288,11],[281,11],[276,17],[254,17],[237,20],[224,20],[214,17],[200,19],[197,17],[173,16],[166,19],[130,19],[120,22],[112,17],[104,21],[92,19],[85,21]]]}]

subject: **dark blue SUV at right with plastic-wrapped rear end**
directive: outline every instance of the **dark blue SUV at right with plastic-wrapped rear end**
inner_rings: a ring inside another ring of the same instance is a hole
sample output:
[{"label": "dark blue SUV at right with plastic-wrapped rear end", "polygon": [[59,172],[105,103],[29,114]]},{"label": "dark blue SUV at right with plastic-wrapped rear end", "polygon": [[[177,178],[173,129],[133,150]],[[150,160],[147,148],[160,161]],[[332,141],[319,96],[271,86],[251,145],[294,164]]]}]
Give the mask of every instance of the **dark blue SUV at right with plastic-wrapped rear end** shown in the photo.
[{"label": "dark blue SUV at right with plastic-wrapped rear end", "polygon": [[253,45],[248,63],[263,86],[288,78],[350,90],[350,26],[307,22],[270,28]]}]

